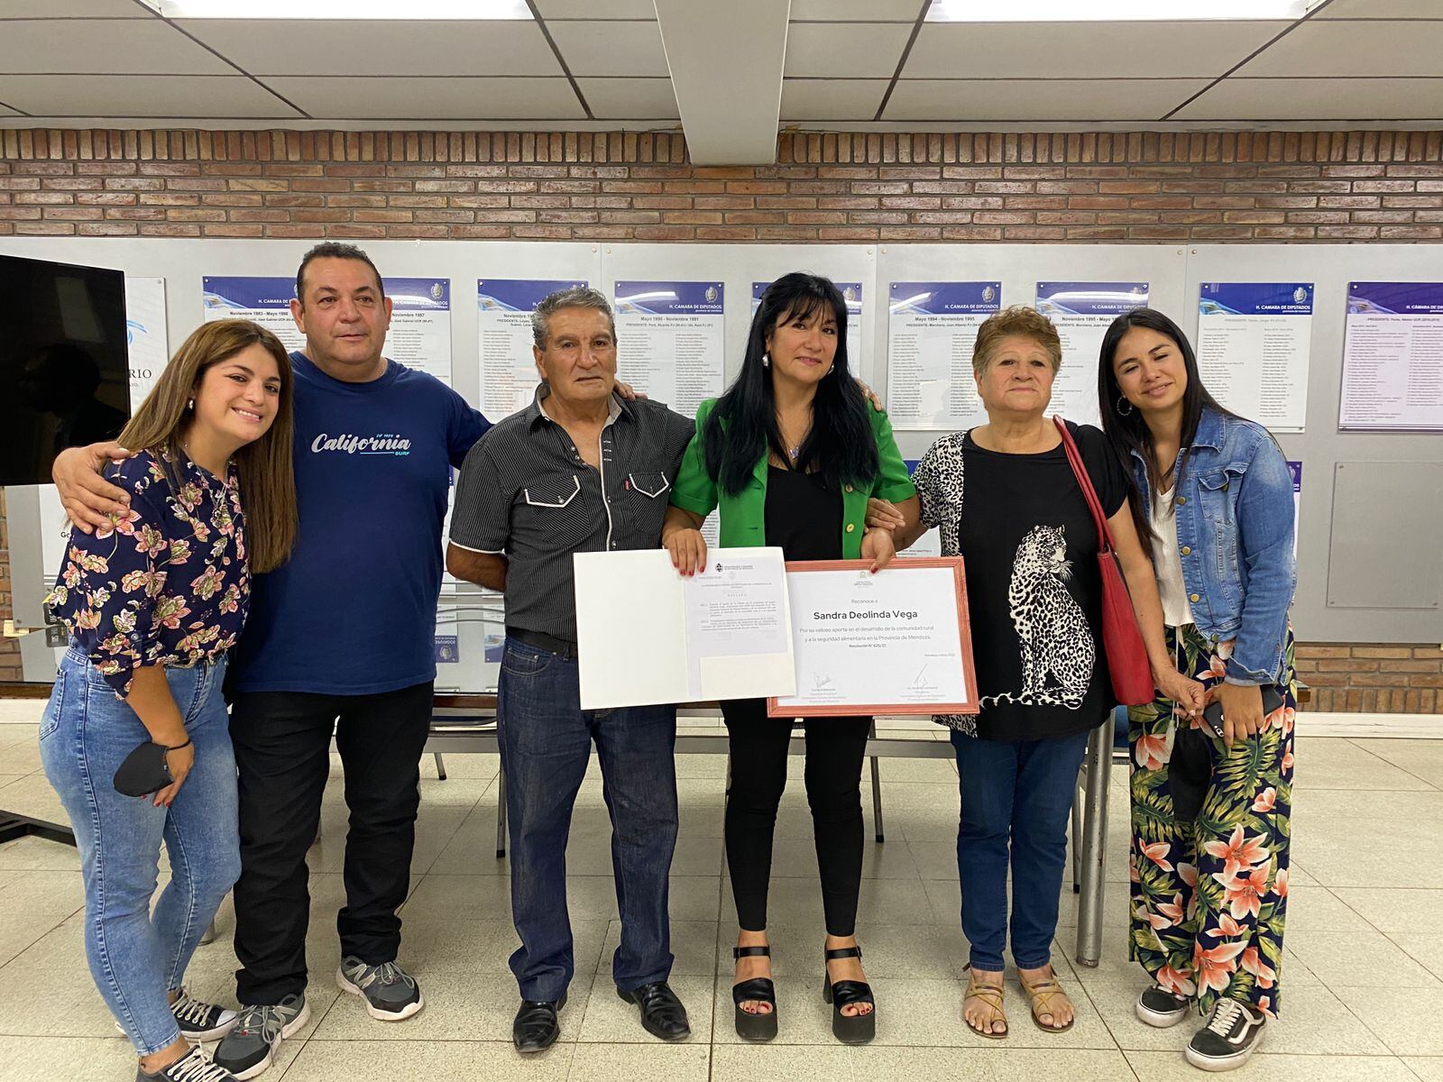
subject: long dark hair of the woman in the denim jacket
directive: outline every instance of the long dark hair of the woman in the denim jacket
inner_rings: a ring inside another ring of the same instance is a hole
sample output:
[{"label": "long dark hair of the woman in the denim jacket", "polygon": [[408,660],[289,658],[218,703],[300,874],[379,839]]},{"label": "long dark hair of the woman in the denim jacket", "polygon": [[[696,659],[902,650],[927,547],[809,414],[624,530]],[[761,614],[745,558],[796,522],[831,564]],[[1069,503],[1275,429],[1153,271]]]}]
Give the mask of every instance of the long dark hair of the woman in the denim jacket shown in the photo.
[{"label": "long dark hair of the woman in the denim jacket", "polygon": [[1147,330],[1156,330],[1163,338],[1170,338],[1173,345],[1177,346],[1177,352],[1182,353],[1183,369],[1188,372],[1188,387],[1182,394],[1180,447],[1183,454],[1192,447],[1192,440],[1198,434],[1198,423],[1202,420],[1203,410],[1215,410],[1227,417],[1237,417],[1237,414],[1219,405],[1218,400],[1202,385],[1202,375],[1198,372],[1198,356],[1192,352],[1192,343],[1182,333],[1182,327],[1162,312],[1157,309],[1133,309],[1131,312],[1124,312],[1108,326],[1107,333],[1102,336],[1102,349],[1097,362],[1098,410],[1102,414],[1102,431],[1107,433],[1113,450],[1117,452],[1126,467],[1127,485],[1131,489],[1128,503],[1133,509],[1133,524],[1137,527],[1137,537],[1147,554],[1152,555],[1153,527],[1143,515],[1141,493],[1137,491],[1137,479],[1133,473],[1133,454],[1137,453],[1141,456],[1143,463],[1147,466],[1147,480],[1152,485],[1154,499],[1157,491],[1162,488],[1163,469],[1157,462],[1157,447],[1153,443],[1153,433],[1143,420],[1141,411],[1131,407],[1131,404],[1128,404],[1127,413],[1117,408],[1118,403],[1123,401],[1123,388],[1117,385],[1117,372],[1113,371],[1113,358],[1117,355],[1117,346],[1121,343],[1123,336],[1133,327],[1146,327]]}]

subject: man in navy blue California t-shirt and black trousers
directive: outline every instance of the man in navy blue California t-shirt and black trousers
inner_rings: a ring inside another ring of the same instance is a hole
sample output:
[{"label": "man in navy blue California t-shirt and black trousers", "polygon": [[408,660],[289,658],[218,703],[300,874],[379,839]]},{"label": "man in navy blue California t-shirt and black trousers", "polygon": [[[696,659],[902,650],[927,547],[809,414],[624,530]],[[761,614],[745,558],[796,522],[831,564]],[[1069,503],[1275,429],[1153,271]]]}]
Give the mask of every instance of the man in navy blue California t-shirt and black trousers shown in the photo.
[{"label": "man in navy blue California t-shirt and black trousers", "polygon": [[[231,659],[240,773],[235,1027],[215,1062],[248,1079],[309,1017],[306,850],[320,827],[330,733],[351,812],[336,982],[398,1021],[424,1006],[395,958],[410,887],[420,757],[436,679],[436,599],[450,470],[489,427],[443,382],[381,355],[391,317],[381,274],[349,244],[300,263],[296,491],[290,561],[257,576]],[[53,478],[79,528],[124,493],[95,476],[115,444],[62,453]]]}]

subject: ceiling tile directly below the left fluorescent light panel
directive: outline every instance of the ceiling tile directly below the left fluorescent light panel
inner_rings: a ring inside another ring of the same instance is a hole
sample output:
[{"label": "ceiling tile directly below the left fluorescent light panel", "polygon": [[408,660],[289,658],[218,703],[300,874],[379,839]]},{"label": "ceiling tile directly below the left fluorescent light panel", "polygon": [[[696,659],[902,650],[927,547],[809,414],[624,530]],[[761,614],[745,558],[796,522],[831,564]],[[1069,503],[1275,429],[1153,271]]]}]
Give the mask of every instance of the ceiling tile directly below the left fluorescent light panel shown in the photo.
[{"label": "ceiling tile directly below the left fluorescent light panel", "polygon": [[534,22],[185,19],[253,75],[561,75]]}]

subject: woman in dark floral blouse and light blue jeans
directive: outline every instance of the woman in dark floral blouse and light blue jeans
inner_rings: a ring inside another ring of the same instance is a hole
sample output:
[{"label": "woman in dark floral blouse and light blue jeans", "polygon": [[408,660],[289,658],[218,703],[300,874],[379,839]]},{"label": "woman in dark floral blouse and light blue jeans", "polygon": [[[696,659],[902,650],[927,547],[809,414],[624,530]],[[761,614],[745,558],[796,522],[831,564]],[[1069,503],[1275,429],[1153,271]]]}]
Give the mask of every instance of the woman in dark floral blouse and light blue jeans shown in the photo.
[{"label": "woman in dark floral blouse and light blue jeans", "polygon": [[[128,508],[72,534],[49,604],[71,632],[40,723],[40,757],[85,873],[85,952],[143,1078],[228,1082],[199,1047],[234,1023],[186,994],[186,964],[240,874],[235,760],[221,679],[251,574],[296,535],[291,371],[247,320],[180,346],[107,469]],[[113,778],[146,742],[170,783],[123,796]],[[172,879],[150,912],[160,844]]]}]

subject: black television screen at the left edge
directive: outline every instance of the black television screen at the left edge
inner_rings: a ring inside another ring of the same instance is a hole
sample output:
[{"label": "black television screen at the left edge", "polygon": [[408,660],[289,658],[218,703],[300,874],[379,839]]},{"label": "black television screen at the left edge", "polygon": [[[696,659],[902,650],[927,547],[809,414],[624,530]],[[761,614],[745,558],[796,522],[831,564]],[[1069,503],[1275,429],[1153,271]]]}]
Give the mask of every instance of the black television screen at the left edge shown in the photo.
[{"label": "black television screen at the left edge", "polygon": [[43,485],[130,417],[126,276],[0,255],[0,485]]}]

